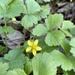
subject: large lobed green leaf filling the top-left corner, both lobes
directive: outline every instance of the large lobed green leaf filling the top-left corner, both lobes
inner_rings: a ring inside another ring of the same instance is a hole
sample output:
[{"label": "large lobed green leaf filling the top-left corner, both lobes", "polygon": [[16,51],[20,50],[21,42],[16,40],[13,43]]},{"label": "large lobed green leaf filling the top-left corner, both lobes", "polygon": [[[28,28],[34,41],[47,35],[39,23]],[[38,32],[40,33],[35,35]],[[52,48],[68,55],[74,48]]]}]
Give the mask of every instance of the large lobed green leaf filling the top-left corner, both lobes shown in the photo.
[{"label": "large lobed green leaf filling the top-left corner, both lobes", "polygon": [[24,12],[24,9],[23,0],[0,0],[0,14],[4,17],[19,16]]}]

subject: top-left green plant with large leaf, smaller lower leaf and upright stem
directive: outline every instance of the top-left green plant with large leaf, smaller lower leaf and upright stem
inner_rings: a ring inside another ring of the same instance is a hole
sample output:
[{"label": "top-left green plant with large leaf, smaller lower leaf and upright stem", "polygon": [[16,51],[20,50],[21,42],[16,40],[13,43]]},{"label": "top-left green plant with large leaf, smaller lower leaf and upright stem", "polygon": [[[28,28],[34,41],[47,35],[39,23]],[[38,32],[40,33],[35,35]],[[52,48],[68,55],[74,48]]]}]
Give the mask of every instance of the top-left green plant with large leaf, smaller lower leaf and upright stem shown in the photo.
[{"label": "top-left green plant with large leaf, smaller lower leaf and upright stem", "polygon": [[[15,6],[16,4],[16,6]],[[20,8],[20,10],[17,10]],[[7,21],[10,18],[19,16],[23,12],[23,1],[22,0],[0,0],[0,18],[4,20],[4,26],[0,26],[0,34],[5,36],[5,44],[7,50],[7,33],[12,33],[14,29],[11,26],[7,26]]]}]

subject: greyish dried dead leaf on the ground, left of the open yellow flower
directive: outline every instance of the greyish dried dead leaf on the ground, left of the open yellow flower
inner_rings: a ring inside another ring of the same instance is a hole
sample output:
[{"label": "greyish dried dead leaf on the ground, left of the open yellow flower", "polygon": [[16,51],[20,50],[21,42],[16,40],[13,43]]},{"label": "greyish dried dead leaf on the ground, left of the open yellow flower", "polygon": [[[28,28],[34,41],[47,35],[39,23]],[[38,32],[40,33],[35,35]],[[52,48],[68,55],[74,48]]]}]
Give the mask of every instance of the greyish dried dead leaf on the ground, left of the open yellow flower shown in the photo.
[{"label": "greyish dried dead leaf on the ground, left of the open yellow flower", "polygon": [[[2,34],[1,37],[4,42],[4,34]],[[17,48],[24,42],[25,36],[20,31],[15,30],[13,34],[7,34],[7,45],[10,49]]]}]

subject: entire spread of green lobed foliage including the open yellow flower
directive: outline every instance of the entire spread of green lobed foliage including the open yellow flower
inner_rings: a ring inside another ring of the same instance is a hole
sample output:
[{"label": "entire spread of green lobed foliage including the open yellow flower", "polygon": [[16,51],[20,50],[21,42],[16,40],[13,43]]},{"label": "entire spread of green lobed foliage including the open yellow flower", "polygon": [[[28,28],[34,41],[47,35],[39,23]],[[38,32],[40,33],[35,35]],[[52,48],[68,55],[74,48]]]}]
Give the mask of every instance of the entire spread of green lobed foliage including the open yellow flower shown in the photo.
[{"label": "entire spread of green lobed foliage including the open yellow flower", "polygon": [[21,13],[24,17],[20,23],[33,38],[0,57],[0,75],[74,75],[74,24],[64,20],[62,14],[50,14],[47,6],[35,0],[26,0],[25,4],[23,0],[0,0],[0,19],[4,21],[0,34],[5,34],[6,44],[6,49],[0,46],[0,51],[7,51],[7,34],[14,32],[8,26],[9,19],[16,21],[14,17]]}]

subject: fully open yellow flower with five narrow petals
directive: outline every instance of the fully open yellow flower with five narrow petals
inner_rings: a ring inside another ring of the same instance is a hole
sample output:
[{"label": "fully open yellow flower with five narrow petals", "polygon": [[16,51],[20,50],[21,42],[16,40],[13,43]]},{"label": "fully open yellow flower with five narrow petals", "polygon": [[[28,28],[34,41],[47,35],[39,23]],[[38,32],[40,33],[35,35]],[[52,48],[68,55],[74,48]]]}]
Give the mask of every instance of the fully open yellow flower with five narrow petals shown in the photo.
[{"label": "fully open yellow flower with five narrow petals", "polygon": [[27,43],[29,47],[26,49],[26,52],[29,52],[30,50],[32,50],[32,53],[34,56],[36,55],[37,51],[42,50],[42,48],[38,46],[38,40],[35,40],[34,42],[31,42],[30,40],[28,40]]}]

